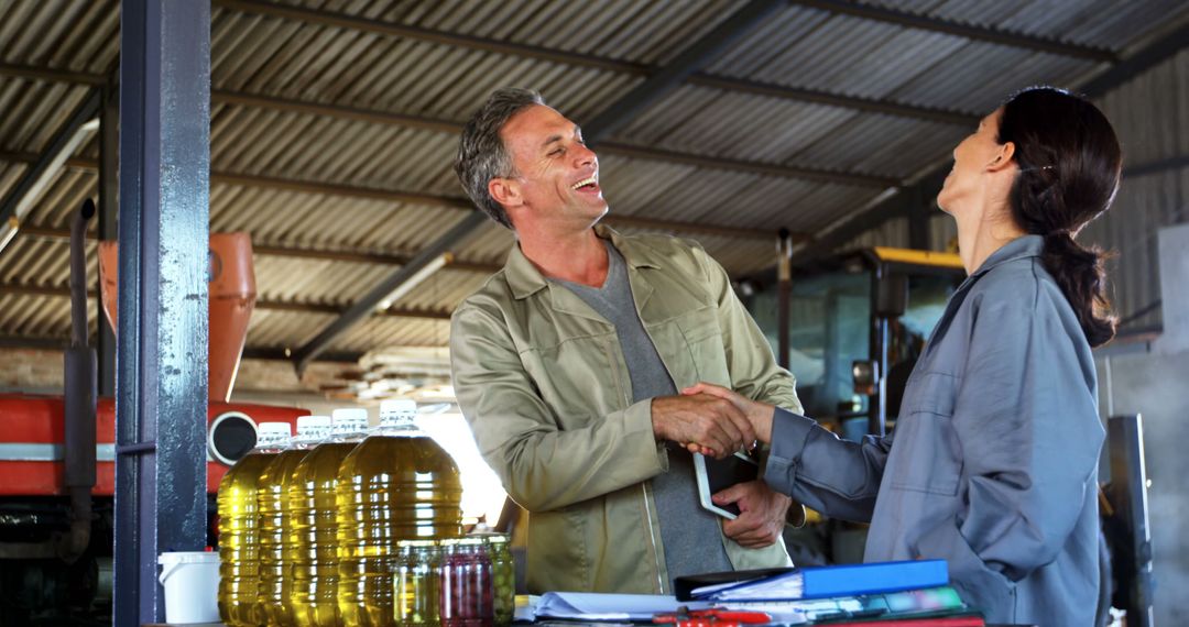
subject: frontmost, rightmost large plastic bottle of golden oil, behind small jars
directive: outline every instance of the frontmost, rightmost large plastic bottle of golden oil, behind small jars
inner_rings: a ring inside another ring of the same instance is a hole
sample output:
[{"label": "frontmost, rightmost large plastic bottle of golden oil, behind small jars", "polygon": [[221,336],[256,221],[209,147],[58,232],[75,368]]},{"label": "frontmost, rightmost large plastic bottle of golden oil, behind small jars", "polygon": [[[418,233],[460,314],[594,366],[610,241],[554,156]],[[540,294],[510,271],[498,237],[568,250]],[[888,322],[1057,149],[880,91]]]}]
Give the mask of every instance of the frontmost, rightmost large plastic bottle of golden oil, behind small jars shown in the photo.
[{"label": "frontmost, rightmost large plastic bottle of golden oil, behind small jars", "polygon": [[398,540],[461,532],[458,467],[417,428],[416,412],[411,400],[385,400],[380,425],[339,468],[339,612],[346,625],[395,625]]}]

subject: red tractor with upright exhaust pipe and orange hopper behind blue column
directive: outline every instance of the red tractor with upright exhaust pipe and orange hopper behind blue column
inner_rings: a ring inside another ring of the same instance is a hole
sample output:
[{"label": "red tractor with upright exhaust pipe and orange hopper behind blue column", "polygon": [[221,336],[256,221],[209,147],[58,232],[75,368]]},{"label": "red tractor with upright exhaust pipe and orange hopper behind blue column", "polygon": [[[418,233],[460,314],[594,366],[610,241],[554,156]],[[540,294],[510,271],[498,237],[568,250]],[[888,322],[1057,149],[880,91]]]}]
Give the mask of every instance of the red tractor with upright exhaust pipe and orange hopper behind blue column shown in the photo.
[{"label": "red tractor with upright exhaust pipe and orange hopper behind blue column", "polygon": [[[39,618],[58,625],[69,616],[106,615],[111,607],[115,404],[95,395],[95,353],[87,346],[83,235],[94,213],[87,201],[71,224],[64,395],[0,394],[0,625]],[[246,234],[210,240],[206,449],[207,528],[214,544],[219,481],[256,445],[256,425],[292,425],[309,412],[227,403],[256,304],[256,279]],[[113,328],[115,261],[115,246],[101,245],[102,299]]]}]

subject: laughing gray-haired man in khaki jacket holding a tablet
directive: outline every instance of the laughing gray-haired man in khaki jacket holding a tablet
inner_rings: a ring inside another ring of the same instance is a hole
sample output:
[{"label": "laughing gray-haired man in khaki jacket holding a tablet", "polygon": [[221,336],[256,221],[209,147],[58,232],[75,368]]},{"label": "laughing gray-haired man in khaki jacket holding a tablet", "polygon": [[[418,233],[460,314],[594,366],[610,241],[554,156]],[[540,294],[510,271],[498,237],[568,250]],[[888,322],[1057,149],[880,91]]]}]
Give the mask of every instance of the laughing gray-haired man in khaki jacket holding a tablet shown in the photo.
[{"label": "laughing gray-haired man in khaki jacket holding a tablet", "polygon": [[755,435],[681,388],[800,407],[722,267],[696,243],[597,226],[598,159],[533,91],[492,94],[455,171],[517,238],[455,310],[451,361],[479,450],[529,511],[529,589],[672,594],[681,575],[787,565],[789,501],[762,481],[716,495],[736,520],[698,504],[690,450],[724,456]]}]

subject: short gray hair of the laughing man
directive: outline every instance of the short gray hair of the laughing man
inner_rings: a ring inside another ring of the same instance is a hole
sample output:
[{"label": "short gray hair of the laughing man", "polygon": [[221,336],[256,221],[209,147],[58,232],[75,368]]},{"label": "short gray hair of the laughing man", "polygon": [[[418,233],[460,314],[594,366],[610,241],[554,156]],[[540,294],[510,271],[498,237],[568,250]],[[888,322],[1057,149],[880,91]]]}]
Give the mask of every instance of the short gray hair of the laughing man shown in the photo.
[{"label": "short gray hair of the laughing man", "polygon": [[491,197],[487,183],[492,178],[516,175],[511,154],[504,146],[499,131],[514,115],[535,104],[545,106],[545,100],[531,89],[497,89],[466,122],[458,142],[458,156],[454,158],[454,172],[466,195],[492,220],[508,228],[512,228],[508,211]]}]

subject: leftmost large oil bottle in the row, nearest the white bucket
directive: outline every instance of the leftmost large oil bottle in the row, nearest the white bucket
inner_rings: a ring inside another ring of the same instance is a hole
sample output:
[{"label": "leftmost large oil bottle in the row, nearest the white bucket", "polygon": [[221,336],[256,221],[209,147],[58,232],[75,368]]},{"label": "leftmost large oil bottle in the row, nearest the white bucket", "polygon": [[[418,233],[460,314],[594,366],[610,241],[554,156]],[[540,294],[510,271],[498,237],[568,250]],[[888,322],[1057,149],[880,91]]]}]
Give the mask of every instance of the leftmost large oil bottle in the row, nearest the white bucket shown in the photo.
[{"label": "leftmost large oil bottle in the row, nearest the white bucket", "polygon": [[256,448],[219,482],[219,616],[227,625],[265,622],[259,603],[260,473],[289,445],[289,423],[260,423]]}]

